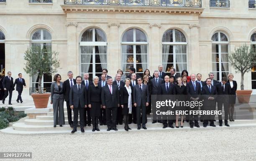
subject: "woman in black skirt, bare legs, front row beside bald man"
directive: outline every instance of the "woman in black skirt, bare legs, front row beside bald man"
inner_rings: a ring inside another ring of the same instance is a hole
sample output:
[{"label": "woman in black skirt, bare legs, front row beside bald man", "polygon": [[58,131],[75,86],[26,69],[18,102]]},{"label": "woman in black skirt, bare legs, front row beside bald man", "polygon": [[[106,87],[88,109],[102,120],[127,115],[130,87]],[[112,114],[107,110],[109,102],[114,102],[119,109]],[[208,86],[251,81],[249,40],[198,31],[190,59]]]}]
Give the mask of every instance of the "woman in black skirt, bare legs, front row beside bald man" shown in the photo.
[{"label": "woman in black skirt, bare legs, front row beside bald man", "polygon": [[[182,84],[182,78],[181,77],[178,77],[177,78],[177,82],[178,84],[174,85],[174,89],[175,89],[175,95],[177,95],[177,99],[178,101],[186,101],[186,95],[187,95],[187,88],[186,86],[184,86]],[[184,95],[184,96],[181,96],[181,95]],[[179,106],[176,110],[179,110],[179,111],[185,111],[186,108],[183,107],[183,106]],[[180,121],[180,127],[183,128],[183,118],[184,118],[184,115],[181,115],[181,121]],[[179,115],[176,115],[176,122],[175,122],[175,126],[176,128],[179,128],[179,125],[178,125],[178,120],[179,120]]]}]

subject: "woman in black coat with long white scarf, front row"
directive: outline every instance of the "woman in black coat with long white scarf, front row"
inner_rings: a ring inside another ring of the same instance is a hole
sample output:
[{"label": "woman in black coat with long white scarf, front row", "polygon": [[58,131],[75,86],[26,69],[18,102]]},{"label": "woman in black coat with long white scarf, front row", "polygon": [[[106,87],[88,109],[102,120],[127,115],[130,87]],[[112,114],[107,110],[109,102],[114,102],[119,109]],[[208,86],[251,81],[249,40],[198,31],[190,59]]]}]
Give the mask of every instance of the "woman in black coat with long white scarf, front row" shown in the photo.
[{"label": "woman in black coat with long white scarf, front row", "polygon": [[123,120],[125,123],[125,130],[131,130],[128,125],[129,114],[132,112],[133,104],[133,87],[130,86],[131,79],[125,79],[125,86],[120,88],[120,104],[123,108]]}]

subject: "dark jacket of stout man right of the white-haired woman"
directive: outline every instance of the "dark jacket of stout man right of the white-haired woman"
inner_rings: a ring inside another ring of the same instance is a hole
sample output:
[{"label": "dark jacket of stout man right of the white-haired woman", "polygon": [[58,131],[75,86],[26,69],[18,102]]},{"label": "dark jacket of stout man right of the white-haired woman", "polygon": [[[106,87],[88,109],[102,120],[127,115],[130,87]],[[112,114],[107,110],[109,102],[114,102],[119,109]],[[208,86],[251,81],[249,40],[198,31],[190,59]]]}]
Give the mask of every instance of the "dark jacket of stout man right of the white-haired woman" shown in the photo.
[{"label": "dark jacket of stout man right of the white-haired woman", "polygon": [[120,103],[120,94],[118,87],[112,85],[112,94],[107,86],[101,88],[101,104],[106,106],[106,108],[118,107]]}]

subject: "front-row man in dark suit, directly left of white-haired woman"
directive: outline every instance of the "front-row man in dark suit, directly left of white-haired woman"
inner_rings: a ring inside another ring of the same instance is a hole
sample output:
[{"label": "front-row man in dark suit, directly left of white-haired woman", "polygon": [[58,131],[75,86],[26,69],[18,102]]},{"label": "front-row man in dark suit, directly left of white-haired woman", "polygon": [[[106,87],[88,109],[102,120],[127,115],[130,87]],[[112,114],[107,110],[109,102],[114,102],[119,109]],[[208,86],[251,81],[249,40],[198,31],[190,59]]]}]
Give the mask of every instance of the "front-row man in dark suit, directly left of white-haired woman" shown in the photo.
[{"label": "front-row man in dark suit, directly left of white-haired woman", "polygon": [[70,88],[69,93],[69,105],[74,112],[74,129],[71,131],[71,133],[77,131],[78,113],[80,118],[81,132],[84,133],[84,108],[87,108],[87,93],[85,86],[81,84],[81,76],[76,77],[76,82],[77,84]]}]

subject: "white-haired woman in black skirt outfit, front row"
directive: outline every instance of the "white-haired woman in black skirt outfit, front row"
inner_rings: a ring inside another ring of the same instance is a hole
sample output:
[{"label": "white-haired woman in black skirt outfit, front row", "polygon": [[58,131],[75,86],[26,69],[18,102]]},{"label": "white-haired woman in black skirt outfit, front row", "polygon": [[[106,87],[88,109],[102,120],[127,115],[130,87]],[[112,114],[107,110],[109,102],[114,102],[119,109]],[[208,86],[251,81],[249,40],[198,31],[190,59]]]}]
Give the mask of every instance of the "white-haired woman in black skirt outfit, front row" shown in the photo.
[{"label": "white-haired woman in black skirt outfit, front row", "polygon": [[98,119],[100,117],[101,108],[101,87],[98,86],[99,77],[95,76],[93,78],[93,85],[89,86],[87,97],[88,97],[88,107],[90,108],[90,114],[92,117],[92,131],[100,131],[98,128]]}]

